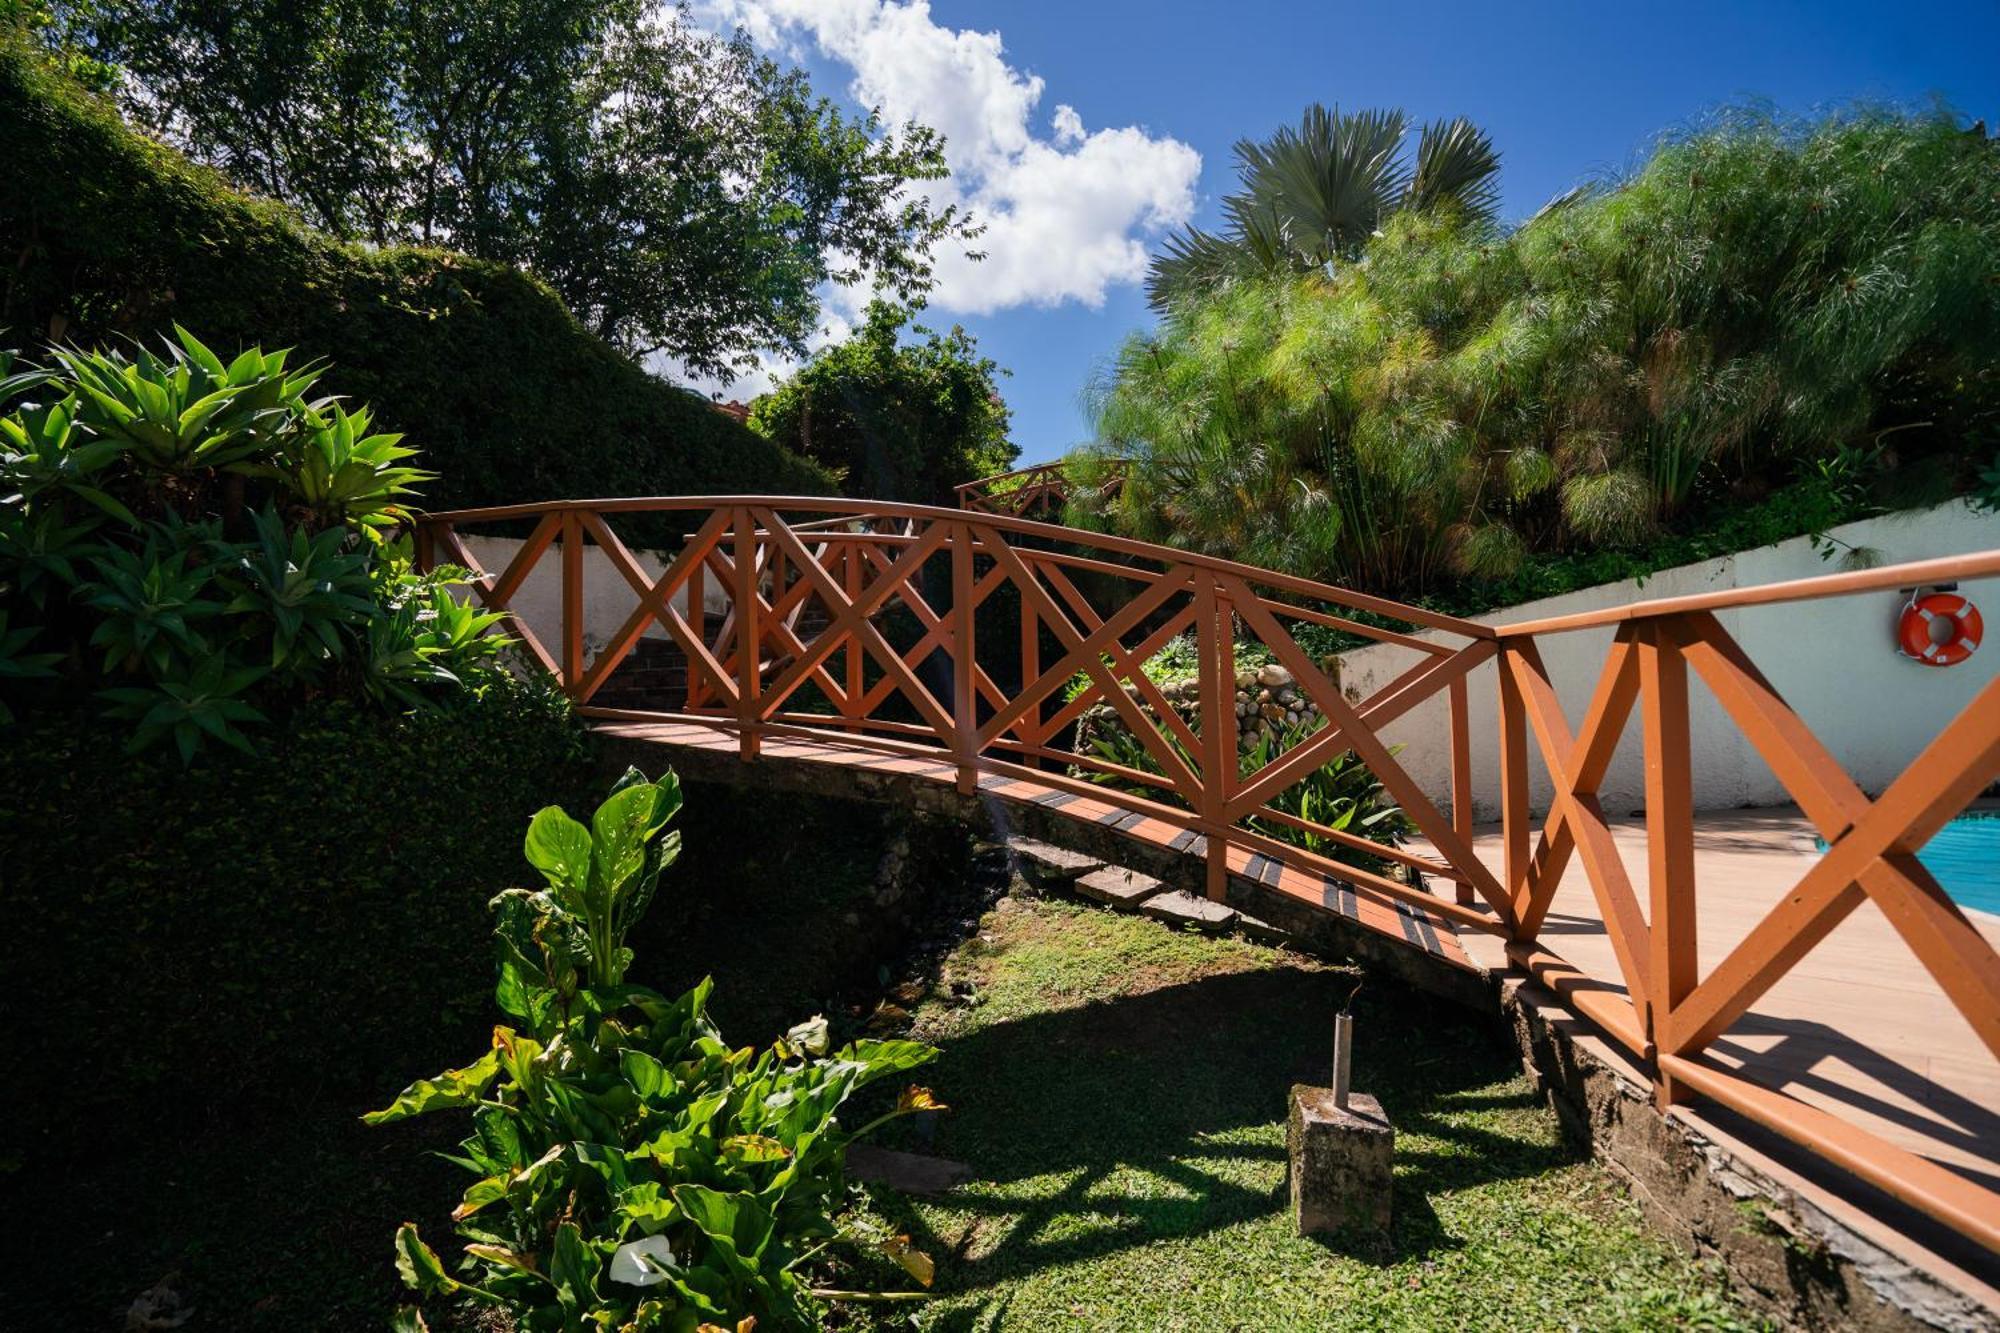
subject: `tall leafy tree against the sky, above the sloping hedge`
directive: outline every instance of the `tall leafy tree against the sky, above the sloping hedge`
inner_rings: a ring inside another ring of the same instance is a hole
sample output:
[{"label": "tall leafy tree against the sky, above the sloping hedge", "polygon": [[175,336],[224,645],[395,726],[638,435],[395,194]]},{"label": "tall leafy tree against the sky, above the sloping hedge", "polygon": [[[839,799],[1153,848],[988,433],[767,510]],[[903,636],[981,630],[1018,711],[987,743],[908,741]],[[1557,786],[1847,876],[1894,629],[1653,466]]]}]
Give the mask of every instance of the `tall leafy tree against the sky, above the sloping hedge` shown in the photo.
[{"label": "tall leafy tree against the sky, above the sloping hedge", "polygon": [[[804,352],[826,282],[930,286],[970,234],[910,186],[944,142],[640,0],[68,0],[128,112],[344,240],[546,280],[642,356]],[[832,256],[840,256],[834,260]]]}]

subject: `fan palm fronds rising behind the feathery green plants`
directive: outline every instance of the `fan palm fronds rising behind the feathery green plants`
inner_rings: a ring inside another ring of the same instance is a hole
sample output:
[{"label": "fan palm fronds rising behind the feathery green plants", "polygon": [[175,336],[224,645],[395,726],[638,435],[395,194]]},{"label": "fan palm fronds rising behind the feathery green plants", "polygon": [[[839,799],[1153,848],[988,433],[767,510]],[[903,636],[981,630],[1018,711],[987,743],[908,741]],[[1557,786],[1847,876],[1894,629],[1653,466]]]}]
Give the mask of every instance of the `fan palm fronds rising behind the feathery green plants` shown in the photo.
[{"label": "fan palm fronds rising behind the feathery green plants", "polygon": [[1434,120],[1404,154],[1410,118],[1400,110],[1342,114],[1314,102],[1298,128],[1236,142],[1242,190],[1222,200],[1228,226],[1190,226],[1152,260],[1146,298],[1166,310],[1190,292],[1246,274],[1310,272],[1360,258],[1382,220],[1400,208],[1458,208],[1490,222],[1500,204],[1500,154],[1464,116]]}]

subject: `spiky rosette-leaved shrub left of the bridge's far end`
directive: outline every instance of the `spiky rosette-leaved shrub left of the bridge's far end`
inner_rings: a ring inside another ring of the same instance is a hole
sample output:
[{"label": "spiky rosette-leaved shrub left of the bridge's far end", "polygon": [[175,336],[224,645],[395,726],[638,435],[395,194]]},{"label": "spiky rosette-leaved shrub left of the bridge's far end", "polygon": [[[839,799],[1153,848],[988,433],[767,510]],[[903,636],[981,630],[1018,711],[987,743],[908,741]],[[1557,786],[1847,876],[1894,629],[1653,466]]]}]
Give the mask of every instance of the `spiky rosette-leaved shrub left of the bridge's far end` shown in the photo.
[{"label": "spiky rosette-leaved shrub left of the bridge's far end", "polygon": [[[502,679],[498,614],[418,574],[408,496],[430,480],[318,366],[186,330],[160,352],[54,348],[0,364],[0,654],[50,693],[96,689],[172,739],[250,751],[246,725],[318,695],[468,703]],[[58,671],[60,669],[60,671]]]}]

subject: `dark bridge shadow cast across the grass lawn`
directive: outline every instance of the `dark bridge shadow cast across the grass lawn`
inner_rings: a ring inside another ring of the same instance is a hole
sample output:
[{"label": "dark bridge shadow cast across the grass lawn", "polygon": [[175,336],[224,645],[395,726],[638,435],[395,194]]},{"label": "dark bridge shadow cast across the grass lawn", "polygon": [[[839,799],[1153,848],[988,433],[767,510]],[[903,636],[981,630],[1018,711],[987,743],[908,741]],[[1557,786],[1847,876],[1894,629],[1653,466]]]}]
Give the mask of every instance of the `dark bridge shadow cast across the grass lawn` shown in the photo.
[{"label": "dark bridge shadow cast across the grass lawn", "polygon": [[[1282,1213],[1270,1127],[1294,1083],[1326,1083],[1332,1015],[1352,987],[1326,971],[1226,973],[946,1039],[934,1081],[954,1111],[928,1151],[972,1165],[976,1179],[944,1201],[970,1225],[940,1237],[906,1201],[882,1203],[944,1259],[940,1293]],[[1462,1011],[1368,993],[1356,1031],[1354,1085],[1398,1131],[1396,1221],[1388,1245],[1340,1237],[1334,1253],[1392,1263],[1456,1249],[1434,1195],[1576,1161],[1464,1123],[1536,1099],[1492,1091],[1518,1063]],[[1042,1179],[1046,1191],[1028,1187]]]}]

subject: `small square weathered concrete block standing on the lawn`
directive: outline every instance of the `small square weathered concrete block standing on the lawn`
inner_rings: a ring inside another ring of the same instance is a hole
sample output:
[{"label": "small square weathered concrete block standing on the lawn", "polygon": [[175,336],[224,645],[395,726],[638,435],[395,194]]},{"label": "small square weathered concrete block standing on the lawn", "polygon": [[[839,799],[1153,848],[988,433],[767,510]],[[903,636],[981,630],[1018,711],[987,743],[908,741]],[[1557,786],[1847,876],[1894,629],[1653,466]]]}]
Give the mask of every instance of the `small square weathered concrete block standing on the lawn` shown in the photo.
[{"label": "small square weathered concrete block standing on the lawn", "polygon": [[1292,1087],[1286,1151],[1292,1221],[1300,1235],[1388,1235],[1396,1131],[1382,1115],[1382,1103],[1350,1093],[1346,1109],[1340,1109],[1332,1089],[1298,1083]]}]

